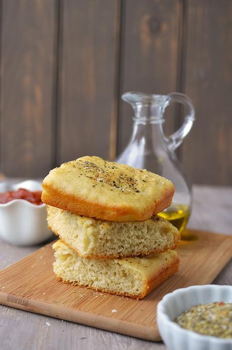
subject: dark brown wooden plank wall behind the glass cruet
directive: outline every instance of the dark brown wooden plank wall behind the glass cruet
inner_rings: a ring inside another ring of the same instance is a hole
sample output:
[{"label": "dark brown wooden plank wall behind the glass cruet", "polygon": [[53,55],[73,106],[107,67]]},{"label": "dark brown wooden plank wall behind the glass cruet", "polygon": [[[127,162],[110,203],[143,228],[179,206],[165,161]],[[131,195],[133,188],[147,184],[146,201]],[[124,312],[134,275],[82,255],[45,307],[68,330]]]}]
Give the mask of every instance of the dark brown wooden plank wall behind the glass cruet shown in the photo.
[{"label": "dark brown wooden plank wall behind the glass cruet", "polygon": [[[0,166],[43,177],[113,159],[131,133],[128,90],[181,91],[196,122],[178,156],[192,182],[232,185],[230,0],[0,0]],[[182,123],[165,114],[167,133]]]}]

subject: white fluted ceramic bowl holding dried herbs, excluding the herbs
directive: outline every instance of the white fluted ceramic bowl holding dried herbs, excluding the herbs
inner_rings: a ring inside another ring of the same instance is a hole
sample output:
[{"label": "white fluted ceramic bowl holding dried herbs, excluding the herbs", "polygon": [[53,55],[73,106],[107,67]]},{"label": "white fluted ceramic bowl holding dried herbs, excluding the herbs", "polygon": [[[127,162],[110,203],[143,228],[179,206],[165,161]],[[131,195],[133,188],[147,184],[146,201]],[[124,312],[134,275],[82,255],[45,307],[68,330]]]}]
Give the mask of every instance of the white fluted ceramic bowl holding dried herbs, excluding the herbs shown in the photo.
[{"label": "white fluted ceramic bowl holding dried herbs, excluding the herbs", "polygon": [[173,320],[197,304],[232,303],[230,285],[193,285],[169,293],[157,305],[157,324],[170,350],[232,350],[232,339],[202,335],[179,326]]}]

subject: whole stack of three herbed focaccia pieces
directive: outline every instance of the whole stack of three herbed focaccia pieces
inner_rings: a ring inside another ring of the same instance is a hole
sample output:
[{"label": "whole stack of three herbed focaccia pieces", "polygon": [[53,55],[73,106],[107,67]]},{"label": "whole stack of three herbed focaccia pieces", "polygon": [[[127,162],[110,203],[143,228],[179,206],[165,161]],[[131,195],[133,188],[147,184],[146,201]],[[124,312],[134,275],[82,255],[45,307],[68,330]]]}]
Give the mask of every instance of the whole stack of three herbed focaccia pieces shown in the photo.
[{"label": "whole stack of three herbed focaccia pieces", "polygon": [[179,231],[155,216],[171,203],[170,181],[86,156],[51,170],[42,187],[63,282],[141,299],[177,272]]}]

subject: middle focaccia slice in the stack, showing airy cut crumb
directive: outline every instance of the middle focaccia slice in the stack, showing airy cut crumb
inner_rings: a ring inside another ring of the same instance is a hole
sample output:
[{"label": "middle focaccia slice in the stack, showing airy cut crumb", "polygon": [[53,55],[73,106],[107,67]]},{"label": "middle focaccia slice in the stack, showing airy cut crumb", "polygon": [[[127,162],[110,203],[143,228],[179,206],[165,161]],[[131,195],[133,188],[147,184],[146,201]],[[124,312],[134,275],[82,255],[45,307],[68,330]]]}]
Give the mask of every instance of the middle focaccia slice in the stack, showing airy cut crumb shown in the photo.
[{"label": "middle focaccia slice in the stack, showing airy cut crumb", "polygon": [[60,239],[85,258],[109,259],[175,249],[178,229],[153,216],[144,221],[112,222],[47,206],[47,222]]}]

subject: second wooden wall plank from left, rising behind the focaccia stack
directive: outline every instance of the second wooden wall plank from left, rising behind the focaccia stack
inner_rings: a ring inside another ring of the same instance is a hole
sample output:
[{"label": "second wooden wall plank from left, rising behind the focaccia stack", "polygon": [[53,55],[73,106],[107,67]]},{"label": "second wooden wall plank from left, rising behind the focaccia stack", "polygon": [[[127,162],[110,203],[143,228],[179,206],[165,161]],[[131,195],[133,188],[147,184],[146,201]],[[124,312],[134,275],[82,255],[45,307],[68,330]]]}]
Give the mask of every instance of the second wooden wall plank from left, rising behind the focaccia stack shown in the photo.
[{"label": "second wooden wall plank from left, rising behind the focaccia stack", "polygon": [[59,163],[86,154],[109,157],[111,123],[115,124],[118,6],[114,0],[63,3]]}]

